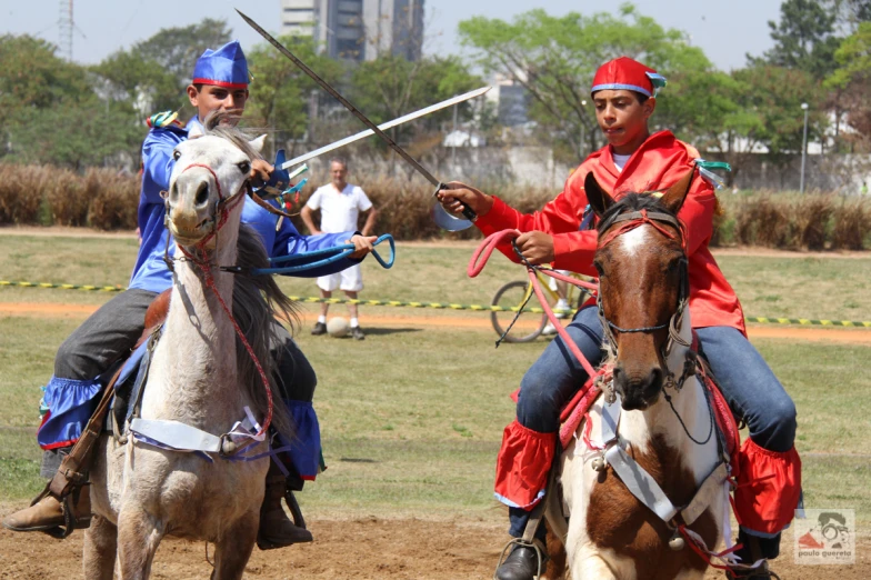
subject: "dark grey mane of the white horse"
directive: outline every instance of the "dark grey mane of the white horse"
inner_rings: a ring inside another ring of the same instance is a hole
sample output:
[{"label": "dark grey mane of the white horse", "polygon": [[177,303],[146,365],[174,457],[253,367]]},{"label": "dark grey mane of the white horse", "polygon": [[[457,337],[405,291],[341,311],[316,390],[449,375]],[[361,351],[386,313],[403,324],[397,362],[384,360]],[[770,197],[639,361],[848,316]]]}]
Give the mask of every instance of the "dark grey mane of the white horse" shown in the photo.
[{"label": "dark grey mane of the white horse", "polygon": [[[204,129],[209,136],[227,139],[233,146],[246,153],[249,159],[262,159],[249,143],[251,137],[233,124],[221,124],[224,119],[236,119],[237,116],[227,112],[212,113],[206,119]],[[269,254],[263,248],[263,241],[257,231],[246,224],[239,227],[239,240],[237,242],[236,266],[242,272],[248,272],[254,268],[269,268]],[[286,388],[278,384],[281,377],[278,373],[278,364],[272,349],[276,349],[278,340],[278,329],[276,319],[283,320],[293,331],[299,321],[297,306],[278,287],[271,276],[250,276],[248,273],[237,273],[233,283],[233,318],[239,323],[239,328],[246,336],[249,344],[254,351],[257,359],[263,367],[269,378],[270,389],[272,390],[272,426],[287,437],[293,436],[293,422],[288,414],[287,407],[282,399],[289,397],[284,394]],[[281,353],[281,349],[276,349]],[[253,402],[258,417],[263,417],[267,411],[267,393],[263,391],[263,381],[257,370],[251,356],[242,344],[241,339],[236,339],[237,368],[239,370],[239,382],[247,389],[249,399]],[[289,387],[289,386],[288,386]]]}]

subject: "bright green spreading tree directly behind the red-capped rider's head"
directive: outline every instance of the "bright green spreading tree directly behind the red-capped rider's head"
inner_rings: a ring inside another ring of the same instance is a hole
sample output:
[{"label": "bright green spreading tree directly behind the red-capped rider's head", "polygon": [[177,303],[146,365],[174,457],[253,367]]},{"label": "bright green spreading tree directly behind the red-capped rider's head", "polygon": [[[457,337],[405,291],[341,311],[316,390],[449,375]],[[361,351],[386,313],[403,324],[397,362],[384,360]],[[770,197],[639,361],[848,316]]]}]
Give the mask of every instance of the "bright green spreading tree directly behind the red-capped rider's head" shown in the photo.
[{"label": "bright green spreading tree directly behind the red-capped rider's head", "polygon": [[[552,17],[541,9],[510,23],[477,17],[460,22],[460,38],[485,71],[529,91],[530,117],[564,159],[583,158],[602,143],[589,89],[597,68],[620,56],[669,78],[654,122],[679,137],[693,140],[715,132],[733,107],[724,90],[729,78],[714,70],[703,51],[690,47],[683,32],[663,29],[631,4],[623,4],[618,17]],[[699,98],[709,93],[715,98]]]}]

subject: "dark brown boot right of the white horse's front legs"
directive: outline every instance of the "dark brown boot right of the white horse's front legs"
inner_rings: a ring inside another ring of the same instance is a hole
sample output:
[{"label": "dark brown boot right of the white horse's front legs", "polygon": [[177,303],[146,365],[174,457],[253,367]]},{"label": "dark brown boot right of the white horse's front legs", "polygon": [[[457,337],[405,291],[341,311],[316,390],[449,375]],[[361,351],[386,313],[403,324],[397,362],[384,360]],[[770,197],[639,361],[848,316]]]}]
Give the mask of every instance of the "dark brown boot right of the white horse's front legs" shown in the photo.
[{"label": "dark brown boot right of the white horse's front legs", "polygon": [[[281,499],[288,499],[288,506],[293,513],[291,521],[284,513]],[[287,481],[274,463],[267,474],[267,491],[263,504],[260,507],[260,529],[257,532],[257,547],[261,550],[284,548],[293,543],[312,541],[312,536],[306,529],[302,513],[299,511],[293,492],[288,489]]]}]

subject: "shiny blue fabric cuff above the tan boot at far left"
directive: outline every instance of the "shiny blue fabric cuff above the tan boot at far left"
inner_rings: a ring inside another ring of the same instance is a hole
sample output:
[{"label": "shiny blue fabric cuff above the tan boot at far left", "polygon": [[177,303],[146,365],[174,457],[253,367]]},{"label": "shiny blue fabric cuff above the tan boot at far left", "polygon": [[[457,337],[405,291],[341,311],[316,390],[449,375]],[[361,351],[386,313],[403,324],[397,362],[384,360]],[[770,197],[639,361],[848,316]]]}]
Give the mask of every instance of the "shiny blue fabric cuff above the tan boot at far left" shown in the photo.
[{"label": "shiny blue fabric cuff above the tan boot at far left", "polygon": [[80,381],[52,377],[46,386],[46,420],[37,431],[42,448],[66,447],[81,437],[84,426],[99,403],[102,384],[98,380]]}]

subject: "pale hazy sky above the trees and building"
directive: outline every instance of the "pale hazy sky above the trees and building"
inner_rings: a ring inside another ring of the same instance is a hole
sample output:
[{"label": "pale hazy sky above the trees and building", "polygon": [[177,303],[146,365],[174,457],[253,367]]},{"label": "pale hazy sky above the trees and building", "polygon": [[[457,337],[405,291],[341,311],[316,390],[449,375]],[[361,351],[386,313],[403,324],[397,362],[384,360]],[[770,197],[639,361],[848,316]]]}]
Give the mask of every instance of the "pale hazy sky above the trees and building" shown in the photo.
[{"label": "pale hazy sky above the trees and building", "polygon": [[[239,8],[270,32],[280,29],[279,0],[69,0],[73,2],[73,60],[100,62],[112,52],[144,40],[161,28],[183,27],[206,17],[224,19],[233,36],[248,49],[262,39],[249,29],[233,8]],[[424,53],[460,53],[457,24],[473,16],[511,20],[533,8],[553,16],[570,11],[585,14],[617,12],[620,0],[603,8],[589,0],[426,0]],[[778,0],[634,0],[642,14],[665,28],[690,34],[719,69],[741,68],[745,54],[771,48],[768,21],[778,20]],[[60,7],[67,0],[0,0],[0,34],[31,34],[58,43]]]}]

